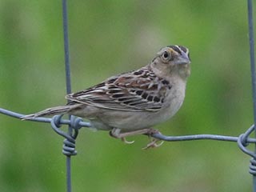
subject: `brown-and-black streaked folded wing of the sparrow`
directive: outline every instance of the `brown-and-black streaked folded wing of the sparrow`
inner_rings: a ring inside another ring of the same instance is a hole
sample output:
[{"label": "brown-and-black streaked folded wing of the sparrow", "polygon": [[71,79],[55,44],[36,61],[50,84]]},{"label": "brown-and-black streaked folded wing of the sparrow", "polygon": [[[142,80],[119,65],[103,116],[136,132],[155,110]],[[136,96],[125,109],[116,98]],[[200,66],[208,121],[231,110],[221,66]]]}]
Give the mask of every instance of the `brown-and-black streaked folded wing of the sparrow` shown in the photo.
[{"label": "brown-and-black streaked folded wing of the sparrow", "polygon": [[108,78],[87,90],[68,94],[66,98],[110,110],[158,111],[170,88],[170,82],[158,78],[148,67],[143,67]]}]

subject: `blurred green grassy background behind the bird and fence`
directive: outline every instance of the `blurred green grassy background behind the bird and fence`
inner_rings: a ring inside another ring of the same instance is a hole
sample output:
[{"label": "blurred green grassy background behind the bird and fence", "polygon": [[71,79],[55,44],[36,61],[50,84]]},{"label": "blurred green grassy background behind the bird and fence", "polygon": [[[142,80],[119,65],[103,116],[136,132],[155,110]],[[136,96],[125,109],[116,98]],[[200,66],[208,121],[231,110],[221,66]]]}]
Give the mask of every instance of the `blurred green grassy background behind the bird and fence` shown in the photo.
[{"label": "blurred green grassy background behind the bird and fence", "polygon": [[[255,1],[254,1],[255,2]],[[242,134],[253,122],[246,1],[70,1],[72,90],[145,66],[163,46],[190,48],[182,109],[163,134]],[[255,15],[254,11],[254,15]],[[255,18],[256,19],[256,18]],[[254,19],[254,20],[255,20]],[[66,103],[62,3],[0,1],[0,107],[30,114]],[[62,140],[50,125],[0,115],[0,191],[65,191]],[[141,150],[86,128],[72,158],[79,191],[250,191],[233,142],[165,142]]]}]

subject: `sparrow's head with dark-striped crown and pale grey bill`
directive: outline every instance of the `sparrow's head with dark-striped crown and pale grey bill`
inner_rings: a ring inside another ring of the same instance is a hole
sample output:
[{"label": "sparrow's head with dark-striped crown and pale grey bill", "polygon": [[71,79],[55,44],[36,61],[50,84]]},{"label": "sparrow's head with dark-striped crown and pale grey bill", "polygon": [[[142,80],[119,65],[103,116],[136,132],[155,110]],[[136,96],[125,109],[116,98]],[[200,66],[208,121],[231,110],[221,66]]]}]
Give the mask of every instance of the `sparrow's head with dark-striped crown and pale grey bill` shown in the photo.
[{"label": "sparrow's head with dark-striped crown and pale grey bill", "polygon": [[190,76],[190,52],[185,46],[166,46],[162,48],[150,63],[159,76]]}]

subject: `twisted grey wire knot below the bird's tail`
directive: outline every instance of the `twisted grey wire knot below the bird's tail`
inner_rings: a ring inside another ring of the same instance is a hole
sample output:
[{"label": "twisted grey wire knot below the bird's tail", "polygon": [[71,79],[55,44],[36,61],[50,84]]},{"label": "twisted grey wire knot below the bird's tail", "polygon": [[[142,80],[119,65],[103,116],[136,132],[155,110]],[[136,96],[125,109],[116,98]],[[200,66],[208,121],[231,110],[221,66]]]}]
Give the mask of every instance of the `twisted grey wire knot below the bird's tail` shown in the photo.
[{"label": "twisted grey wire knot below the bird's tail", "polygon": [[75,139],[78,136],[78,130],[82,127],[80,122],[82,122],[82,118],[75,118],[74,116],[70,117],[70,134],[60,130],[59,128],[62,126],[61,119],[63,115],[55,115],[50,122],[50,125],[54,129],[54,131],[61,135],[64,139],[62,154],[67,156],[76,155],[77,151],[75,150]]}]

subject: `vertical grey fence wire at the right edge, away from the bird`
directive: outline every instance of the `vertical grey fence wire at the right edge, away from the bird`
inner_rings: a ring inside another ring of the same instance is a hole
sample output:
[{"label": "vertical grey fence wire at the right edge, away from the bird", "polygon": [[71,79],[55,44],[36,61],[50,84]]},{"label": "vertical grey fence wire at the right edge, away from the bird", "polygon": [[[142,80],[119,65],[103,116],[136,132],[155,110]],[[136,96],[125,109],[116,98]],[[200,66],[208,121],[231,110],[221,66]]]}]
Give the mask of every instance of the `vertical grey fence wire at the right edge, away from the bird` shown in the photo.
[{"label": "vertical grey fence wire at the right edge, away from the bird", "polygon": [[[254,125],[256,125],[256,74],[255,74],[255,58],[254,58],[254,22],[253,22],[252,0],[247,0],[247,8],[248,8],[249,44],[250,44],[250,70],[251,70],[251,82],[252,82],[253,105],[254,105]],[[255,126],[254,126],[254,129],[256,129]],[[255,146],[255,151],[256,151],[256,146]],[[254,158],[254,160],[256,159]],[[255,174],[253,176],[253,187],[254,187],[254,192],[256,192],[256,175]]]}]

